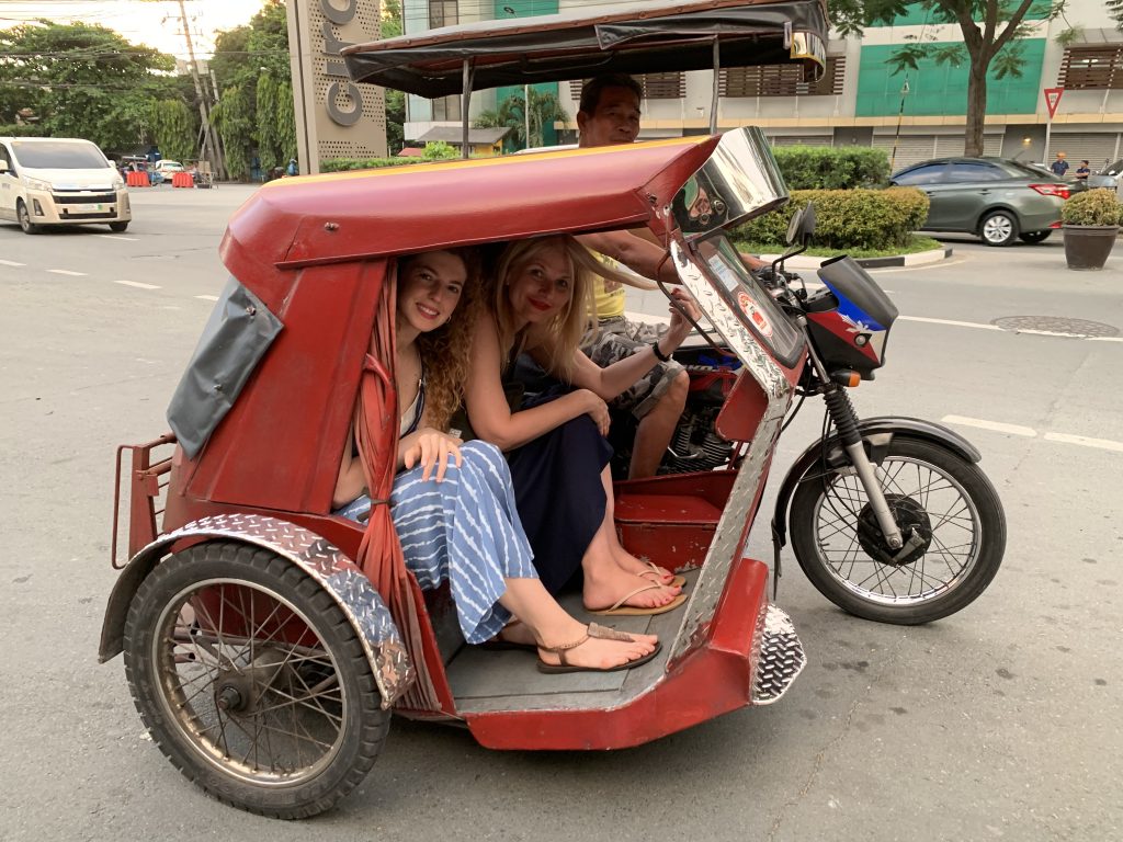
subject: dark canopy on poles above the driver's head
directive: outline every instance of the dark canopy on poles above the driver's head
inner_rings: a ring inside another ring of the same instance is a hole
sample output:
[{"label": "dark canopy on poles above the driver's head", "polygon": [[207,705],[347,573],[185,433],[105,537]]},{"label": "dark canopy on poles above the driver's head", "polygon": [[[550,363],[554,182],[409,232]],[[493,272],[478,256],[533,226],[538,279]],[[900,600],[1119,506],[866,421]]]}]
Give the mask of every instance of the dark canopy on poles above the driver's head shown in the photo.
[{"label": "dark canopy on poles above the driver's head", "polygon": [[341,51],[348,73],[407,93],[459,93],[472,61],[473,90],[585,79],[601,73],[710,70],[802,62],[818,75],[829,24],[823,0],[651,0],[610,13],[484,20]]}]

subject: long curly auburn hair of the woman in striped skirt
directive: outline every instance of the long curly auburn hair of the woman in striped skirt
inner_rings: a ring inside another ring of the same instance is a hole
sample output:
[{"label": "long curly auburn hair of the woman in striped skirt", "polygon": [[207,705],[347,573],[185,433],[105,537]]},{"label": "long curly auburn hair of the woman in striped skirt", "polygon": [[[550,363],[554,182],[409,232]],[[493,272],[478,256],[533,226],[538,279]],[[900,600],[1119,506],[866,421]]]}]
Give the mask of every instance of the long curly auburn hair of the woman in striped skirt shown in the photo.
[{"label": "long curly auburn hair of the woman in striped skirt", "polygon": [[[424,365],[426,423],[438,430],[448,429],[448,420],[464,402],[464,384],[468,378],[472,354],[472,331],[476,323],[482,296],[480,294],[481,260],[473,248],[440,249],[455,255],[464,263],[466,278],[460,300],[451,318],[436,330],[417,338],[418,351]],[[405,269],[420,255],[402,257],[398,262],[398,282],[405,277]]]}]

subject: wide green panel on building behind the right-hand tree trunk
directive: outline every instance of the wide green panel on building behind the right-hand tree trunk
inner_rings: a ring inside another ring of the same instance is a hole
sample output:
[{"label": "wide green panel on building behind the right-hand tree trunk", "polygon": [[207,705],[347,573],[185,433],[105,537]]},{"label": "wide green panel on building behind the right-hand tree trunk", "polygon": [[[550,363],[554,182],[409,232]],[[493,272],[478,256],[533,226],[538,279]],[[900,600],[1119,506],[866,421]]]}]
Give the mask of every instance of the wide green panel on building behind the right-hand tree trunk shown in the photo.
[{"label": "wide green panel on building behind the right-hand tree trunk", "polygon": [[[1031,115],[1037,110],[1041,95],[1041,64],[1046,53],[1044,38],[1020,42],[1022,47],[1022,76],[998,80],[992,67],[987,76],[988,115]],[[864,46],[858,66],[857,117],[895,116],[902,108],[901,89],[909,79],[909,93],[904,95],[905,117],[955,117],[967,113],[967,81],[969,66],[965,61],[958,67],[923,60],[916,70],[891,75],[889,56],[900,46]],[[965,54],[966,60],[966,54]]]}]

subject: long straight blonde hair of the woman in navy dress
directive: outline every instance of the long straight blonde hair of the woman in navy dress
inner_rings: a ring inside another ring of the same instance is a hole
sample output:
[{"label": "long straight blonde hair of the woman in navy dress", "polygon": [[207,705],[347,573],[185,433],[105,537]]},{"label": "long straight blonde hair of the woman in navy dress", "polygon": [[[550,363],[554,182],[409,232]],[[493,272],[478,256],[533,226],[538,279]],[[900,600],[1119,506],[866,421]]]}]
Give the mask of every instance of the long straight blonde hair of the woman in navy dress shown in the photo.
[{"label": "long straight blonde hair of the woman in navy dress", "polygon": [[[517,329],[511,300],[508,296],[511,275],[523,264],[550,248],[560,248],[569,260],[573,295],[549,321]],[[501,358],[506,361],[522,351],[541,348],[546,351],[547,369],[558,377],[568,379],[573,368],[573,355],[577,353],[582,337],[595,320],[593,284],[597,275],[641,290],[655,289],[655,284],[645,283],[637,275],[618,272],[609,264],[602,263],[568,234],[515,240],[504,248],[499,257],[491,290]]]}]

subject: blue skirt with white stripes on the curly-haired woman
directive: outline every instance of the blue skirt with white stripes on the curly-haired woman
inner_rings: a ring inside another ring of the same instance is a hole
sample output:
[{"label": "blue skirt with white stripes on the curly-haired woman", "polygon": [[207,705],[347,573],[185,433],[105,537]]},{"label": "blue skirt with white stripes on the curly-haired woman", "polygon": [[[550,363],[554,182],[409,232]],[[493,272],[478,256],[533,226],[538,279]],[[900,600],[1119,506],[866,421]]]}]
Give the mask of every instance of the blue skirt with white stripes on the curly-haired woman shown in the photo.
[{"label": "blue skirt with white stripes on the curly-haired woman", "polygon": [[[463,465],[449,460],[445,478],[421,479],[417,467],[398,475],[391,516],[405,565],[422,588],[446,579],[468,643],[491,640],[510,621],[499,604],[504,579],[537,578],[530,542],[514,504],[506,460],[494,445],[460,447]],[[336,514],[359,520],[364,496]]]}]

